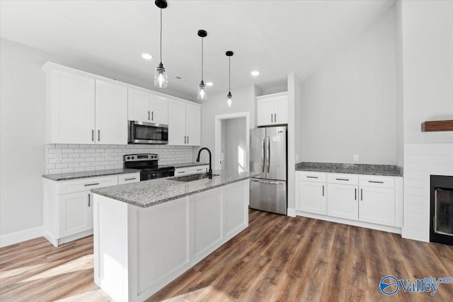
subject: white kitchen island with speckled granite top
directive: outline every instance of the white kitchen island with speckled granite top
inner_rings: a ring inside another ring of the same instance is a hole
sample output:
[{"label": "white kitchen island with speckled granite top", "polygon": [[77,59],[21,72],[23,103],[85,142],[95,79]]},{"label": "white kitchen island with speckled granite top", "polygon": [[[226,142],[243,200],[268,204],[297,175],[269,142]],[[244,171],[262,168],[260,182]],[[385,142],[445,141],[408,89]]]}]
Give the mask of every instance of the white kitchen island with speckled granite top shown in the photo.
[{"label": "white kitchen island with speckled granite top", "polygon": [[243,231],[254,174],[214,174],[92,190],[95,283],[115,301],[144,301]]}]

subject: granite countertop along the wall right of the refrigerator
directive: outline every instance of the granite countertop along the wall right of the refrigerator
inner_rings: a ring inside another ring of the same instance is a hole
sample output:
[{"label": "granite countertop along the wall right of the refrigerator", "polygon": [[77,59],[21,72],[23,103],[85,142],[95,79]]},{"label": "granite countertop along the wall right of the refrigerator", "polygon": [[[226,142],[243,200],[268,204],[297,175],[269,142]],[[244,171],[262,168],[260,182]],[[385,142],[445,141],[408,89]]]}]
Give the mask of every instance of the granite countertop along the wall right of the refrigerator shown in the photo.
[{"label": "granite countertop along the wall right of the refrigerator", "polygon": [[365,163],[297,163],[297,171],[326,173],[403,176],[403,168],[397,165],[369,165]]}]

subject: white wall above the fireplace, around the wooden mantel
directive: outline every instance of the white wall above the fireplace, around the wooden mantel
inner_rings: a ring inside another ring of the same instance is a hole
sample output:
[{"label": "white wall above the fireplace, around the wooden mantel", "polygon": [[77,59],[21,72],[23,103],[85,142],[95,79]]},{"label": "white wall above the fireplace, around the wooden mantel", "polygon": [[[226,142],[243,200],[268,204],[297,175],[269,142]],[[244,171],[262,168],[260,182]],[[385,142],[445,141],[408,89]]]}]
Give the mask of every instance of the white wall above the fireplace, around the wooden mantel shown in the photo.
[{"label": "white wall above the fireplace, around the wooden mantel", "polygon": [[452,142],[453,132],[421,132],[453,120],[453,1],[403,1],[405,143]]}]

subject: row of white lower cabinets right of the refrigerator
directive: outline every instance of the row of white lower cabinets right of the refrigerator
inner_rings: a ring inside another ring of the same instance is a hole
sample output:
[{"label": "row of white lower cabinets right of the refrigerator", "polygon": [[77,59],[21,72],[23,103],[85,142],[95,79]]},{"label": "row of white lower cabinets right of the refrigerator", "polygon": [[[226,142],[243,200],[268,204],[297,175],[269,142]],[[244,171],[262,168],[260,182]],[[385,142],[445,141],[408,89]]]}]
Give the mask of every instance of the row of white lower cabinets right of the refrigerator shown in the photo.
[{"label": "row of white lower cabinets right of the refrigerator", "polygon": [[402,226],[402,178],[298,171],[296,181],[297,211]]}]

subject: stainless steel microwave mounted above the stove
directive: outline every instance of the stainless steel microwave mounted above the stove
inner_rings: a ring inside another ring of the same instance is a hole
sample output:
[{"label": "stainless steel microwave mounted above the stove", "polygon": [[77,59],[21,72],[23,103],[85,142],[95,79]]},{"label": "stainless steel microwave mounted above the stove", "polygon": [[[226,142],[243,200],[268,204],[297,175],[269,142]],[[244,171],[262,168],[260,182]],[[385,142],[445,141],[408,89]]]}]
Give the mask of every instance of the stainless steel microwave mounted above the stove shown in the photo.
[{"label": "stainless steel microwave mounted above the stove", "polygon": [[168,125],[129,121],[129,144],[168,144]]}]

